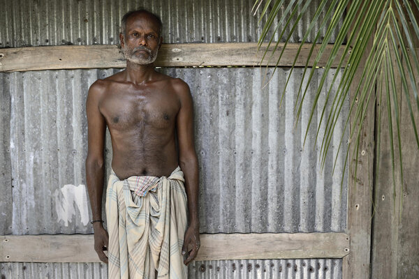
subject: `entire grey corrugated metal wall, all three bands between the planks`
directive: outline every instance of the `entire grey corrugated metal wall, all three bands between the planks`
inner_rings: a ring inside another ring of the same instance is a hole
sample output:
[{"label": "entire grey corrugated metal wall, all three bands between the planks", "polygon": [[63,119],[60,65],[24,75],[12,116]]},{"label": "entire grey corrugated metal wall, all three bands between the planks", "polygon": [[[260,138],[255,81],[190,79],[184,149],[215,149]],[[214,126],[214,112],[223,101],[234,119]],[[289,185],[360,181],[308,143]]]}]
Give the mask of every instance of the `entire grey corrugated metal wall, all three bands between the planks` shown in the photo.
[{"label": "entire grey corrugated metal wall, all three bands between the planks", "polygon": [[[138,6],[161,15],[164,39],[170,43],[256,41],[260,32],[250,16],[253,0],[0,3],[6,7],[0,10],[0,47],[115,44],[120,17]],[[312,6],[294,41],[314,10]],[[117,71],[0,73],[0,234],[92,233],[84,186],[84,102],[91,83]],[[302,70],[293,73],[281,107],[288,69],[277,70],[264,89],[265,70],[260,68],[161,71],[188,82],[193,94],[201,232],[344,232],[346,184],[342,193],[339,186],[346,172],[344,158],[332,176],[333,149],[322,170],[318,146],[313,149],[314,130],[302,149],[302,127],[312,100],[304,105],[302,125],[294,127],[293,101]],[[309,96],[321,71],[316,71]],[[342,123],[337,135],[341,128]],[[334,146],[338,140],[335,136]],[[108,165],[111,152],[108,141]],[[0,264],[6,278],[102,278],[105,270],[103,264],[90,263]],[[196,262],[189,273],[190,278],[341,278],[341,260]]]}]

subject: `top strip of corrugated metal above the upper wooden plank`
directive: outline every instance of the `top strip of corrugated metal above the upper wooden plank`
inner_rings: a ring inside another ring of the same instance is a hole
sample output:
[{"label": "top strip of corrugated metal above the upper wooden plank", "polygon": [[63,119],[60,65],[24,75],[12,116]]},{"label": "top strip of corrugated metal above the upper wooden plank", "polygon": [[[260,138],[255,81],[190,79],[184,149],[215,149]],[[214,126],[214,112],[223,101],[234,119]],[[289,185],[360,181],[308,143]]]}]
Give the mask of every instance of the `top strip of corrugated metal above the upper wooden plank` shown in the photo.
[{"label": "top strip of corrugated metal above the upper wooden plank", "polygon": [[[253,3],[254,0],[0,0],[0,47],[116,44],[122,16],[139,7],[160,15],[165,43],[256,42],[266,18],[258,24],[259,16],[251,13]],[[313,1],[293,33],[292,42],[304,36],[316,8]],[[285,36],[289,33],[287,30]],[[313,39],[309,37],[309,41]]]}]

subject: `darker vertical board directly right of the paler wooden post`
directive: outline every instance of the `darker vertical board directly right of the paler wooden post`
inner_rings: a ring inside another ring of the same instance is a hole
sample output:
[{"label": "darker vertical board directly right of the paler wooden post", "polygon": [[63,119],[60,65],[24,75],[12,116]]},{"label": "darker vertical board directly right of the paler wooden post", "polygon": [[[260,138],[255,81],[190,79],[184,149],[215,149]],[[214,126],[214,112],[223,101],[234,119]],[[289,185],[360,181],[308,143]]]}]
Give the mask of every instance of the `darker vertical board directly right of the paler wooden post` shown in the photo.
[{"label": "darker vertical board directly right of the paler wooden post", "polygon": [[[390,45],[390,50],[394,58],[394,50]],[[395,70],[396,87],[398,91],[398,102],[400,104],[402,84],[400,83],[400,76],[397,70],[397,62],[392,61],[392,66]],[[385,84],[383,84],[385,86]],[[397,278],[397,240],[399,238],[399,207],[400,207],[400,177],[398,173],[398,140],[397,128],[394,116],[395,107],[391,98],[392,105],[392,126],[393,134],[390,135],[388,127],[388,101],[386,100],[386,90],[383,87],[382,97],[380,92],[377,92],[378,101],[376,103],[376,113],[381,112],[381,125],[377,122],[376,127],[381,130],[380,133],[380,156],[377,158],[378,167],[376,172],[376,181],[374,181],[374,231],[372,233],[372,278]],[[381,99],[381,101],[380,101]],[[378,121],[378,119],[377,119]],[[377,135],[378,136],[378,135]],[[395,182],[396,192],[393,193],[393,177],[392,177],[392,163],[390,136],[393,137],[393,148],[395,150]]]}]

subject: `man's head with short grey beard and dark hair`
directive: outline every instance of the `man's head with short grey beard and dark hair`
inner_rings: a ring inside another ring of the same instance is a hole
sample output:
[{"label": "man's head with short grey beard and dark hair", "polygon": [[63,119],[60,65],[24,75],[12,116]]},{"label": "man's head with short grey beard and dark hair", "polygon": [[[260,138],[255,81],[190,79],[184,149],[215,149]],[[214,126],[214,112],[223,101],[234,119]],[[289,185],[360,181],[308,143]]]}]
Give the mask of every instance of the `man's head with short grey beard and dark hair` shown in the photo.
[{"label": "man's head with short grey beard and dark hair", "polygon": [[147,65],[156,60],[161,46],[159,24],[147,13],[128,17],[125,34],[120,34],[121,49],[126,60]]}]

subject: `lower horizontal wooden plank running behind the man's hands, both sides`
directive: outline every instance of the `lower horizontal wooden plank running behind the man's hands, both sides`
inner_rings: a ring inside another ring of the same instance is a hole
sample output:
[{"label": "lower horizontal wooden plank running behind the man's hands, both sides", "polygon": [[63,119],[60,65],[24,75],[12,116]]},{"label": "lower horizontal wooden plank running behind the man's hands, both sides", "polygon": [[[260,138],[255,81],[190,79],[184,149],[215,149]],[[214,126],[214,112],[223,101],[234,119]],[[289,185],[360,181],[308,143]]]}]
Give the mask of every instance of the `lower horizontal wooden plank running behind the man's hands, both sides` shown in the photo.
[{"label": "lower horizontal wooden plank running behind the man's hands, both sides", "polygon": [[[99,262],[92,234],[0,236],[0,262]],[[196,260],[341,258],[343,233],[201,234]]]}]

